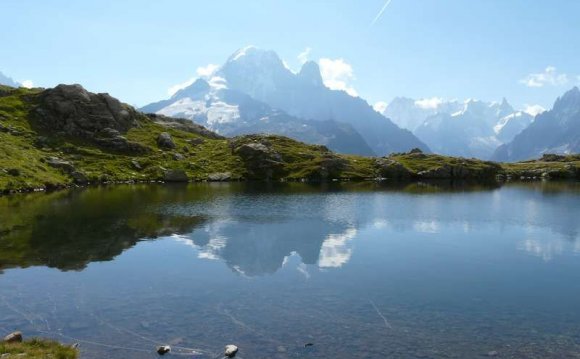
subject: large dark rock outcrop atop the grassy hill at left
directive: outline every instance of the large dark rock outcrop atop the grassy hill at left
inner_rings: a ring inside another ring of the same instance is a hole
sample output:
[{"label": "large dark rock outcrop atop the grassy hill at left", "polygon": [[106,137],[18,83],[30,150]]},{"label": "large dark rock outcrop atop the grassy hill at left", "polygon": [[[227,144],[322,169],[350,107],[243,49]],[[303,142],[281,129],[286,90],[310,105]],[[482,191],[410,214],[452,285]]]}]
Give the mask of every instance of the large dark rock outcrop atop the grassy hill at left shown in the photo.
[{"label": "large dark rock outcrop atop the grassy hill at left", "polygon": [[147,152],[121,135],[139,125],[137,111],[108,94],[90,93],[80,85],[58,85],[39,95],[33,115],[40,127],[52,132],[115,151]]}]

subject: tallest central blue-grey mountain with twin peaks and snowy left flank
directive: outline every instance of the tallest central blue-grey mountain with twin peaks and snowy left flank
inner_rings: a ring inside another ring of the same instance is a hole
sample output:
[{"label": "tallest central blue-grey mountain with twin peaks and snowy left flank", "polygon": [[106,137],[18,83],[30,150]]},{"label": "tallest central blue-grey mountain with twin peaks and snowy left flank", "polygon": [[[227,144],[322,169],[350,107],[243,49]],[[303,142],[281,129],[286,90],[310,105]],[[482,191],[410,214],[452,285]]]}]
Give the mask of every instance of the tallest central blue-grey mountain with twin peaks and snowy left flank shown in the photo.
[{"label": "tallest central blue-grey mountain with twin peaks and snowy left flank", "polygon": [[[202,112],[207,113],[208,121],[211,121],[211,113],[229,111],[224,116],[227,117],[226,127],[230,133],[257,131],[284,134],[310,143],[326,144],[344,153],[369,154],[369,147],[371,153],[376,155],[408,151],[415,147],[428,151],[428,147],[411,132],[397,127],[366,101],[326,87],[315,62],[307,62],[298,73],[293,73],[275,52],[246,47],[230,56],[208,83],[210,97],[217,99],[210,101],[210,106],[202,108],[192,105],[190,102],[203,100],[181,94],[145,106],[142,110],[155,110],[199,123],[205,121],[206,115]],[[219,84],[222,91],[212,90],[212,83]],[[186,88],[184,91],[191,93],[192,89]],[[244,95],[244,103],[252,103],[245,111],[240,109],[237,100],[232,99]],[[176,103],[178,101],[181,102]],[[184,104],[190,106],[190,110],[183,111]],[[168,108],[171,106],[180,108]],[[262,111],[255,111],[254,106],[261,107]],[[320,126],[319,122],[324,122],[324,125]],[[220,128],[222,124],[205,124],[227,134],[225,129]],[[251,129],[248,129],[249,126]],[[367,145],[363,145],[361,139]]]}]

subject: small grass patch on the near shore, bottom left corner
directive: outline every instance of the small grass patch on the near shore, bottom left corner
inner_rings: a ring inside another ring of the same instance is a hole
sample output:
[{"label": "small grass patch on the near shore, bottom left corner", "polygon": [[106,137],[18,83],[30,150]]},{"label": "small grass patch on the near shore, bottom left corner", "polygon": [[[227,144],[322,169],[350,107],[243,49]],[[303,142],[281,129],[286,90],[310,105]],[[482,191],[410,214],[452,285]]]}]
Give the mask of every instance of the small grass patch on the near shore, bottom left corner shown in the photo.
[{"label": "small grass patch on the near shore, bottom left corner", "polygon": [[10,356],[8,356],[9,358],[22,356],[27,359],[78,358],[78,352],[74,348],[64,346],[51,340],[36,338],[22,343],[0,343],[0,356],[2,356],[2,354],[10,354]]}]

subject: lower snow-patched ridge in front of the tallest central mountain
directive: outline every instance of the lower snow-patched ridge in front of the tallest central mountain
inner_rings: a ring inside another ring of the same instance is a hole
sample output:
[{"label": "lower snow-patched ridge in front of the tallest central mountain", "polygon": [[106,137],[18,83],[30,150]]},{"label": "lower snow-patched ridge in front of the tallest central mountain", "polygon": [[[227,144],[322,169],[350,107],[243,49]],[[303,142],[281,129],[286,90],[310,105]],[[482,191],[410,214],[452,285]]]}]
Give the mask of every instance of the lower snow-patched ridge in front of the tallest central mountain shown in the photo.
[{"label": "lower snow-patched ridge in front of the tallest central mountain", "polygon": [[212,77],[209,81],[197,79],[170,99],[141,110],[189,119],[224,136],[274,133],[325,145],[341,153],[374,154],[360,134],[346,123],[290,116],[243,92],[229,89],[225,80],[219,77]]}]

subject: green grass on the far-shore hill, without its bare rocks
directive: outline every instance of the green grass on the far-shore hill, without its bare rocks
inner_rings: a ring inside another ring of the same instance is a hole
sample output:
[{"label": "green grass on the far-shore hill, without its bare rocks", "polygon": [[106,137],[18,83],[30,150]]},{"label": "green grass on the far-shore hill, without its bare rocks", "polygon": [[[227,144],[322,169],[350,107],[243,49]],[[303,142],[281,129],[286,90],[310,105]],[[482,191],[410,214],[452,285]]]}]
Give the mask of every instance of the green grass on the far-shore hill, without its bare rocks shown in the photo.
[{"label": "green grass on the far-shore hill, without its bare rocks", "polygon": [[[151,149],[146,155],[112,153],[87,141],[39,132],[29,116],[39,92],[38,89],[0,86],[0,192],[71,184],[73,180],[69,175],[44,163],[52,156],[73,163],[76,170],[93,183],[161,180],[167,169],[182,169],[192,180],[206,180],[212,173],[223,172],[229,172],[231,179],[251,177],[243,159],[232,151],[227,139],[203,138],[203,143],[190,145],[186,141],[202,136],[166,128],[146,116],[139,120],[139,127],[126,134],[128,140]],[[157,147],[156,138],[161,132],[172,135],[177,145],[175,150]],[[35,145],[39,136],[48,138],[48,141]],[[289,180],[318,178],[325,160],[329,155],[334,156],[321,146],[306,145],[281,136],[246,136],[239,141],[251,142],[256,138],[268,141],[271,148],[281,155],[284,178]],[[176,160],[177,153],[184,158]],[[333,178],[371,179],[379,173],[373,158],[335,157],[346,160],[347,165],[338,175],[333,174]],[[490,166],[485,161],[439,155],[394,154],[389,158],[404,165],[411,173],[410,178],[420,178],[417,173],[442,166],[464,166],[470,172],[484,171]],[[135,162],[140,169],[134,165]],[[579,158],[565,162],[503,164],[500,171],[518,176],[530,170],[559,171],[570,164],[580,167]]]}]

